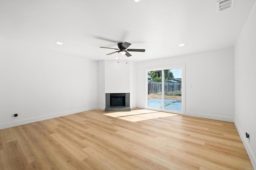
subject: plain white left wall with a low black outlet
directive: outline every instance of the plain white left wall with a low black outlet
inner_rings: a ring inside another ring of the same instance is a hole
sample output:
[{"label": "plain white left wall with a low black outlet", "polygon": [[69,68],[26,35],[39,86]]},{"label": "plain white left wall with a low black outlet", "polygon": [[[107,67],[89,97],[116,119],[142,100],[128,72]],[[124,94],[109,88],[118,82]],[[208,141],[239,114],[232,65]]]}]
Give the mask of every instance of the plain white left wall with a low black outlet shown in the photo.
[{"label": "plain white left wall with a low black outlet", "polygon": [[97,98],[96,61],[1,47],[0,129],[95,109]]}]

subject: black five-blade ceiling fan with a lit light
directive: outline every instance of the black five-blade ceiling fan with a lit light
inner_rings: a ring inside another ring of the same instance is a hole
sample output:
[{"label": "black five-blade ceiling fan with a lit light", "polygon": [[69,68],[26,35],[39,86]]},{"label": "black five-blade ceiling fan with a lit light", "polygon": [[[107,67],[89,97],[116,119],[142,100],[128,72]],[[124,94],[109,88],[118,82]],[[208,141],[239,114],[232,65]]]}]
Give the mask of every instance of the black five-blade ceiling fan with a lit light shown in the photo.
[{"label": "black five-blade ceiling fan with a lit light", "polygon": [[118,51],[115,51],[113,53],[109,53],[109,54],[106,54],[106,55],[119,53],[120,55],[126,55],[127,57],[132,56],[130,53],[128,53],[128,51],[145,52],[145,49],[127,49],[130,45],[131,45],[131,43],[125,42],[125,43],[118,43],[117,44],[119,49],[114,49],[114,48],[109,48],[109,47],[100,47],[100,48],[118,50]]}]

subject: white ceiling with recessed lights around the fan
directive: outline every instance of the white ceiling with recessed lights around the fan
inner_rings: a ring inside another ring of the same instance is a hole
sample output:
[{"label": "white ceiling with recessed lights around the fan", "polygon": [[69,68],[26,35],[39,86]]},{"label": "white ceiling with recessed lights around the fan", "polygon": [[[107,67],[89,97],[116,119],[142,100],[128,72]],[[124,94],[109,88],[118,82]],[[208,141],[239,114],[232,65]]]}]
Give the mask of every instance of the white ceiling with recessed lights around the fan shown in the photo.
[{"label": "white ceiling with recessed lights around the fan", "polygon": [[0,0],[0,43],[92,60],[117,57],[99,48],[117,47],[104,39],[146,49],[132,61],[222,49],[234,46],[255,1],[217,13],[216,0]]}]

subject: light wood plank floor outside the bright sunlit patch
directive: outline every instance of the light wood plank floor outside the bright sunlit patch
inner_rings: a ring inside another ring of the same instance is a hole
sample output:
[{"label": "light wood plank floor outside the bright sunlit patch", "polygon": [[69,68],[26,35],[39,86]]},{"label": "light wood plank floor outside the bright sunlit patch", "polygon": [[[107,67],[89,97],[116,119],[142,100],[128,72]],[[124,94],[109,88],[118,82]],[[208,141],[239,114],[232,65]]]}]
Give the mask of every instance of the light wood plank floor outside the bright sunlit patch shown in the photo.
[{"label": "light wood plank floor outside the bright sunlit patch", "polygon": [[0,169],[252,168],[234,123],[184,115],[132,122],[104,113],[0,130]]}]

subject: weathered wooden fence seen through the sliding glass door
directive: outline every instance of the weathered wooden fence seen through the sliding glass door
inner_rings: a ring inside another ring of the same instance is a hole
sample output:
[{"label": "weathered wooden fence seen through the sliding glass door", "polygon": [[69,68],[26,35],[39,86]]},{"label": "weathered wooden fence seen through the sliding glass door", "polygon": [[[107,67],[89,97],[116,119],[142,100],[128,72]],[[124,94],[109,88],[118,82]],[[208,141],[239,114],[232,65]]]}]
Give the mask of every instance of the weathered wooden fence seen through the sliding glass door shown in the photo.
[{"label": "weathered wooden fence seen through the sliding glass door", "polygon": [[[181,90],[181,83],[164,83],[164,92],[176,92]],[[162,82],[148,82],[148,94],[162,93]]]}]

